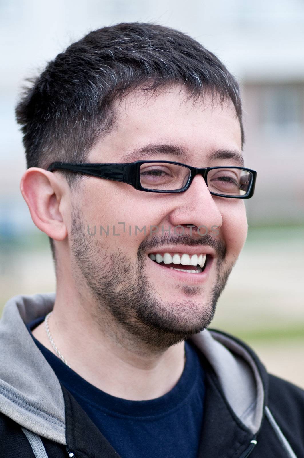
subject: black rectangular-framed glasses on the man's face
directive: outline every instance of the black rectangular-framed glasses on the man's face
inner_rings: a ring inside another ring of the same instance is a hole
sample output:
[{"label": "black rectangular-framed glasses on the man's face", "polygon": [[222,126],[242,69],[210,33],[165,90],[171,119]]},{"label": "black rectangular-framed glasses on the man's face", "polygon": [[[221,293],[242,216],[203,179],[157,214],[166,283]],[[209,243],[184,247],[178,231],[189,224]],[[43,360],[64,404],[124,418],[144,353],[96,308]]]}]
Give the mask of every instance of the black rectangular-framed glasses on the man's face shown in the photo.
[{"label": "black rectangular-framed glasses on the man's face", "polygon": [[121,181],[139,191],[183,192],[201,174],[214,196],[249,199],[255,189],[255,170],[245,167],[207,167],[197,169],[172,161],[136,161],[128,164],[75,164],[53,162],[48,170],[67,170]]}]

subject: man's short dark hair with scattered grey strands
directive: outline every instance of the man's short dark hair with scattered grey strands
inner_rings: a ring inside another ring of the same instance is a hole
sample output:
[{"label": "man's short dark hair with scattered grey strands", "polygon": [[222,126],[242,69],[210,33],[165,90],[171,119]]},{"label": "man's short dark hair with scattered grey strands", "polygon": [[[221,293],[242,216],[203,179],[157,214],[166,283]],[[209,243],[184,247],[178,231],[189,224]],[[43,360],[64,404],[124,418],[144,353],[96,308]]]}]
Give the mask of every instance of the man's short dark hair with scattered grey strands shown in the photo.
[{"label": "man's short dark hair with scattered grey strands", "polygon": [[[205,91],[231,100],[244,129],[239,84],[195,39],[170,27],[121,23],[88,33],[50,61],[16,106],[27,168],[54,161],[86,162],[115,121],[113,103],[136,88],[156,91],[179,84],[189,97]],[[80,174],[61,171],[72,188]],[[50,240],[56,265],[54,243]]]}]

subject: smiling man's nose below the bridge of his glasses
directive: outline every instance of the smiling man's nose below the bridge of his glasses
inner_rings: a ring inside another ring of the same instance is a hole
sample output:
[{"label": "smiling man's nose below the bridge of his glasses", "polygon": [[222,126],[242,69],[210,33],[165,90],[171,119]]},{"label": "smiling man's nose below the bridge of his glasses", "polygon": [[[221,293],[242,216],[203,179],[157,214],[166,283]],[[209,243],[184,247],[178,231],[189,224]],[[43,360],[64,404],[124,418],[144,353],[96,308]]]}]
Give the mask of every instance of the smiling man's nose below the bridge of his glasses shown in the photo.
[{"label": "smiling man's nose below the bridge of his glasses", "polygon": [[202,226],[201,235],[210,234],[222,226],[222,214],[202,175],[196,175],[187,191],[175,194],[175,198],[176,205],[169,218],[173,226]]}]

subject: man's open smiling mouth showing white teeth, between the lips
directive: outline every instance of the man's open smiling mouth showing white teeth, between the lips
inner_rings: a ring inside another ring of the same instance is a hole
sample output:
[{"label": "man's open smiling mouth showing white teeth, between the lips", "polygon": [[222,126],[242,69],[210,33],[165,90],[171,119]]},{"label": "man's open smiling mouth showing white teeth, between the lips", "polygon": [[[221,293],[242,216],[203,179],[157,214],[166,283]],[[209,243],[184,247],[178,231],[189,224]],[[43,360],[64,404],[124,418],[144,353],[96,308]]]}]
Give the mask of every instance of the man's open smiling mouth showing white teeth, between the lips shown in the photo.
[{"label": "man's open smiling mouth showing white teeth, between the lips", "polygon": [[149,253],[149,258],[163,267],[187,273],[202,273],[211,257],[209,254],[198,253]]}]

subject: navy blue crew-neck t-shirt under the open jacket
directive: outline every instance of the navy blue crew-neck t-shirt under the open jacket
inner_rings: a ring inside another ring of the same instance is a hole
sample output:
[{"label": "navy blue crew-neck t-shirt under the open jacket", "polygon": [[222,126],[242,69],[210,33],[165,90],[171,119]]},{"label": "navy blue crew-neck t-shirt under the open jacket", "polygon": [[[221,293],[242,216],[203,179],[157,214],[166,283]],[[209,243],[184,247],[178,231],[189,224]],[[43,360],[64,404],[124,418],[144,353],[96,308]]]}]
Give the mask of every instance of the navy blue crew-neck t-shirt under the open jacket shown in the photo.
[{"label": "navy blue crew-neck t-shirt under the open jacket", "polygon": [[[29,323],[27,329],[33,330],[43,319]],[[129,401],[94,387],[33,340],[60,382],[122,458],[197,458],[205,374],[198,350],[190,341],[185,342],[185,369],[169,393],[148,401]]]}]

